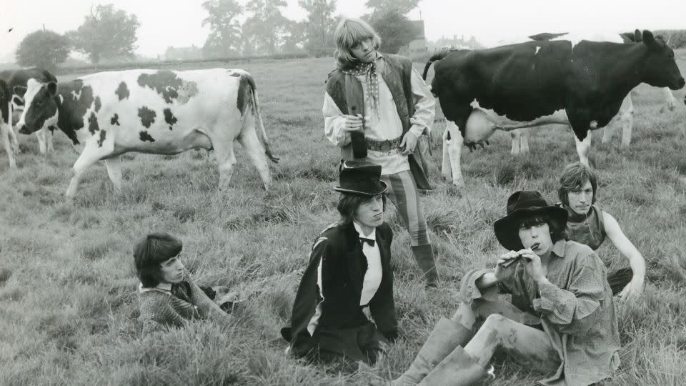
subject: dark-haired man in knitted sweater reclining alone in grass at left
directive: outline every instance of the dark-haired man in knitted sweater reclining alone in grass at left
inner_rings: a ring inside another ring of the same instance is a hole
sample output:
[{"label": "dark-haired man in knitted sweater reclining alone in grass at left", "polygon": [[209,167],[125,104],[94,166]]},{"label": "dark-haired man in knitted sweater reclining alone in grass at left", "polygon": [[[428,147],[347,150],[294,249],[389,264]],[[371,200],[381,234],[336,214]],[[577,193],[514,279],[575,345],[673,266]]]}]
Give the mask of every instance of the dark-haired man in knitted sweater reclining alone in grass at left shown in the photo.
[{"label": "dark-haired man in knitted sweater reclining alone in grass at left", "polygon": [[184,327],[199,317],[227,319],[208,295],[212,288],[200,288],[190,279],[179,259],[181,240],[166,233],[148,234],[134,247],[143,335],[164,327]]}]

